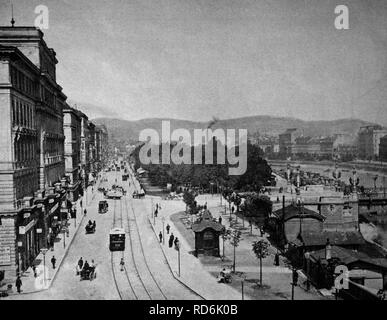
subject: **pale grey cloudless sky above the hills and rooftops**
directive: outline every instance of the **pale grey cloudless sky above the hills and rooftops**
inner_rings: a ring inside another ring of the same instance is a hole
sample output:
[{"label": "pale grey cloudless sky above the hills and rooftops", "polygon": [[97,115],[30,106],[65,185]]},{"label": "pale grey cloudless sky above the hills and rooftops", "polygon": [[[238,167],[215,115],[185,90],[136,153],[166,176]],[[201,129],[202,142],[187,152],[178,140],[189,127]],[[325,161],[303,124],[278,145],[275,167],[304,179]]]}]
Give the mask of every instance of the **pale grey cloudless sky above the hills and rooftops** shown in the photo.
[{"label": "pale grey cloudless sky above the hills and rooftops", "polygon": [[[13,1],[16,25],[48,6],[59,84],[107,116],[387,124],[385,0]],[[339,4],[349,30],[334,27]],[[0,0],[1,25],[9,12]]]}]

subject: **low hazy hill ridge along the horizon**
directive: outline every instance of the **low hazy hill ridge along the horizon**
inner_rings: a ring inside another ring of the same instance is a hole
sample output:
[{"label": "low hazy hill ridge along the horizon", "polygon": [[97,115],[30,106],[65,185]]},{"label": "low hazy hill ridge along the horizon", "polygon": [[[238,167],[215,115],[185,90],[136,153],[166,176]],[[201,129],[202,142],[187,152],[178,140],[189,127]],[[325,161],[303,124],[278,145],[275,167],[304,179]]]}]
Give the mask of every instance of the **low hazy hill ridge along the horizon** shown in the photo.
[{"label": "low hazy hill ridge along the horizon", "polygon": [[[171,131],[184,128],[204,129],[208,122],[194,122],[178,119],[170,120]],[[155,129],[161,133],[162,119],[143,119],[138,121],[127,121],[111,118],[97,118],[93,122],[106,125],[109,134],[119,141],[137,141],[139,133],[143,129]],[[358,119],[341,119],[334,121],[303,121],[295,118],[280,118],[270,116],[253,116],[228,120],[219,120],[213,129],[247,129],[249,134],[259,131],[261,134],[278,135],[287,128],[300,128],[304,130],[304,135],[327,136],[335,133],[356,134],[361,126],[372,123]]]}]

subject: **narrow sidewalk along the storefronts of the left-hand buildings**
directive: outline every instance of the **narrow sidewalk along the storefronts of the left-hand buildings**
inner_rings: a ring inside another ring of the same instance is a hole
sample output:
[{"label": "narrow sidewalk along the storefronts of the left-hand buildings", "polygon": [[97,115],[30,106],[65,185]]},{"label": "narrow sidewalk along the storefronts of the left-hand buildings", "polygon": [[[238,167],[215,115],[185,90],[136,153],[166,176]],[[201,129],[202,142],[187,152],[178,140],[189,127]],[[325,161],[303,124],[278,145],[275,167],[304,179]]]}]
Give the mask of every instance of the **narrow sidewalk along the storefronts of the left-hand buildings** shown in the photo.
[{"label": "narrow sidewalk along the storefronts of the left-hand buildings", "polygon": [[[89,211],[89,209],[91,208],[91,203],[93,202],[95,194],[97,193],[98,187],[94,186],[94,193],[91,192],[91,189],[92,187],[88,187],[86,191],[87,195],[85,200],[87,200],[87,211]],[[66,258],[68,250],[70,249],[70,246],[75,238],[75,235],[77,234],[79,227],[82,225],[82,222],[85,218],[83,215],[83,210],[80,206],[81,200],[82,198],[78,199],[75,205],[77,210],[76,219],[69,219],[67,222],[69,235],[67,236],[66,233],[60,232],[55,239],[54,250],[48,250],[45,255],[45,259],[42,253],[39,253],[39,255],[35,258],[34,265],[36,267],[37,277],[34,277],[34,272],[31,267],[23,272],[21,276],[21,280],[23,283],[21,287],[21,294],[31,294],[47,290],[55,281],[56,274],[58,273],[62,262]],[[85,205],[85,203],[83,203],[83,205]],[[53,266],[51,264],[51,258],[53,256],[55,256],[56,258],[55,269],[53,269]],[[46,274],[46,276],[44,276],[44,274]],[[18,293],[16,292],[16,288],[12,283],[12,292],[9,296],[12,297],[13,295],[18,295]]]}]

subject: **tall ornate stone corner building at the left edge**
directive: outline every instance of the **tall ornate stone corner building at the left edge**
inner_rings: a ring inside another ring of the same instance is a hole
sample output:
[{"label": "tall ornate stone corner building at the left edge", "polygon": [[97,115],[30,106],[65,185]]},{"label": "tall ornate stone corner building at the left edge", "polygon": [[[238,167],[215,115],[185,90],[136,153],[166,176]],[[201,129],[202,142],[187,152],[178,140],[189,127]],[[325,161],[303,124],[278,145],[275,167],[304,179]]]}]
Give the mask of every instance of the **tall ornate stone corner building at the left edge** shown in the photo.
[{"label": "tall ornate stone corner building at the left edge", "polygon": [[[0,270],[15,276],[55,237],[64,190],[57,60],[33,27],[0,27]],[[55,218],[56,217],[56,218]]]}]

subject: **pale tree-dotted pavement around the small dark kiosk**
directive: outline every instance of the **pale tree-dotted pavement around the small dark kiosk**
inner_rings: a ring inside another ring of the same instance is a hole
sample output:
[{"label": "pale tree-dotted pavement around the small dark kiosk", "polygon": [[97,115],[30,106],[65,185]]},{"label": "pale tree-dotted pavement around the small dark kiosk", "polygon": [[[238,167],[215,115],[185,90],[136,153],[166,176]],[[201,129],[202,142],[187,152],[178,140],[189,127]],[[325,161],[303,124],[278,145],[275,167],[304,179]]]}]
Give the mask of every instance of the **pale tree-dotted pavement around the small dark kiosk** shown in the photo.
[{"label": "pale tree-dotted pavement around the small dark kiosk", "polygon": [[[198,202],[204,204],[207,202],[208,208],[215,218],[222,216],[222,222],[226,228],[230,227],[229,222],[229,212],[224,213],[224,205],[219,206],[219,197],[212,197],[210,195],[201,195],[198,197]],[[158,201],[158,200],[155,200]],[[223,200],[224,204],[224,200]],[[231,266],[233,260],[233,247],[228,241],[225,243],[225,259],[222,261],[217,257],[206,257],[199,256],[195,258],[189,251],[193,250],[194,247],[194,235],[189,229],[188,226],[184,224],[181,218],[186,219],[184,212],[185,205],[182,202],[175,201],[163,201],[162,202],[163,210],[159,213],[158,218],[156,218],[156,225],[154,226],[155,233],[158,233],[162,230],[161,218],[164,216],[166,218],[165,225],[169,223],[172,226],[172,232],[175,236],[180,239],[182,243],[182,249],[187,252],[186,255],[182,254],[182,280],[186,281],[189,286],[192,286],[193,289],[206,290],[207,295],[215,296],[217,299],[223,298],[226,296],[221,293],[219,288],[221,286],[214,285],[212,290],[208,292],[207,287],[208,283],[216,284],[215,277],[219,273],[219,270],[222,266]],[[228,208],[227,208],[228,209]],[[180,214],[179,214],[180,212]],[[235,222],[235,215],[232,215],[233,222]],[[151,222],[153,222],[153,219]],[[235,225],[234,225],[235,226]],[[238,218],[238,228],[242,227],[242,220]],[[274,254],[276,249],[270,247],[270,255],[263,259],[263,288],[258,288],[256,283],[259,279],[259,262],[256,259],[254,253],[252,252],[252,242],[255,240],[266,238],[260,236],[259,230],[253,227],[252,234],[250,234],[250,228],[248,223],[245,223],[245,229],[242,229],[242,240],[239,246],[236,248],[236,274],[233,277],[233,281],[229,288],[237,291],[234,295],[234,299],[241,299],[241,281],[242,278],[245,279],[244,285],[244,295],[245,299],[265,299],[265,300],[290,300],[291,299],[291,279],[292,271],[286,266],[285,259],[280,257],[280,266],[274,266]],[[182,236],[183,235],[183,236]],[[166,239],[168,240],[168,239]],[[171,264],[175,273],[177,273],[177,251],[175,249],[168,248],[167,243],[163,246],[167,253],[168,262]],[[223,252],[223,241],[220,240],[220,251]],[[183,253],[183,252],[182,252]],[[186,262],[184,261],[186,259]],[[201,270],[201,273],[206,273],[209,277],[205,277],[205,282],[198,283],[196,279],[193,279],[193,274],[197,275],[198,270]],[[187,271],[187,274],[184,273]],[[302,279],[300,278],[300,285],[302,285]],[[202,287],[200,287],[202,284]],[[222,285],[225,286],[225,285]],[[320,300],[326,299],[322,297],[314,288],[310,291],[306,291],[302,287],[295,287],[295,299],[297,300]],[[247,298],[246,298],[247,296]],[[211,299],[211,298],[210,298]]]}]

